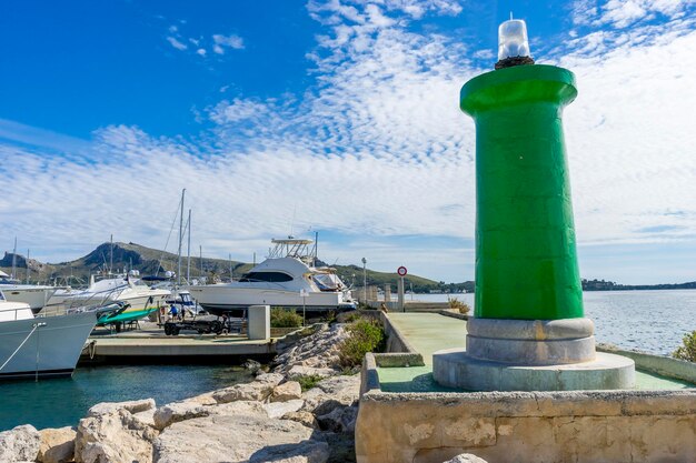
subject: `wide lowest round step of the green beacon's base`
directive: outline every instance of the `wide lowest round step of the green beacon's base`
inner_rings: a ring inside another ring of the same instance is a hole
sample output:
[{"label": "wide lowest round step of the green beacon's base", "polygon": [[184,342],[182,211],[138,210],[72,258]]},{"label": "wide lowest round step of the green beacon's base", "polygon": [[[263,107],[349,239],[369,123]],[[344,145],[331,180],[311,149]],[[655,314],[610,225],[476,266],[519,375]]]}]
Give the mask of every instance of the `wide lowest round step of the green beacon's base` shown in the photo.
[{"label": "wide lowest round step of the green beacon's base", "polygon": [[466,391],[581,391],[633,389],[634,361],[598,352],[595,360],[569,365],[519,366],[468,356],[463,349],[432,354],[432,376]]}]

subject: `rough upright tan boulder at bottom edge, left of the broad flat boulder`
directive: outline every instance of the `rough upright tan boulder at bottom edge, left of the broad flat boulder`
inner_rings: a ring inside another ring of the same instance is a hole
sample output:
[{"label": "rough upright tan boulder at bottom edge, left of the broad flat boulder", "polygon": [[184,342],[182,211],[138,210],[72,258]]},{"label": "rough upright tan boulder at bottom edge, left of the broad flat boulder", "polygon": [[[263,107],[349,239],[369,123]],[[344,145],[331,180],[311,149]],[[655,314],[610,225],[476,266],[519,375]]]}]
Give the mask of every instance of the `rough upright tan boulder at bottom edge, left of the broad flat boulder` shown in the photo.
[{"label": "rough upright tan boulder at bottom edge, left of the broad flat boulder", "polygon": [[80,420],[74,445],[77,463],[150,463],[158,432],[126,409]]}]

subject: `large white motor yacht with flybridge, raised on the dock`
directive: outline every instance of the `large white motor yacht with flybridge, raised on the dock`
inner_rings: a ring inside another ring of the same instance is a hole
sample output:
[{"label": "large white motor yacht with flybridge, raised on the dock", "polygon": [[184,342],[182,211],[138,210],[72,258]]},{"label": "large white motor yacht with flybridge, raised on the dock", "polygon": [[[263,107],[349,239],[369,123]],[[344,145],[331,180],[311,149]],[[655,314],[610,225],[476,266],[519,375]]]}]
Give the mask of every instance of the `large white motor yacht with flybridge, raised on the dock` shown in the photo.
[{"label": "large white motor yacht with flybridge, raised on the dock", "polygon": [[308,311],[355,309],[350,290],[334,269],[315,268],[316,246],[311,240],[272,240],[267,260],[238,281],[188,286],[191,296],[207,311],[222,314],[249,305]]}]

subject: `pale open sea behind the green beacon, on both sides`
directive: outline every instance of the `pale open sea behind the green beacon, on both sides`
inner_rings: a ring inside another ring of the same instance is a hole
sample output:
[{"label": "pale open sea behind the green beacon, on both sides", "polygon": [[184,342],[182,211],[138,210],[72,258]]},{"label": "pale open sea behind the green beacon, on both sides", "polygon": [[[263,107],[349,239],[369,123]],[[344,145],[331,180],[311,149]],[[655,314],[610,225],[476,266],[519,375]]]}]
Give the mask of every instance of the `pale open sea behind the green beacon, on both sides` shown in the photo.
[{"label": "pale open sea behind the green beacon, on both sides", "polygon": [[[450,294],[474,309],[474,294]],[[446,302],[447,294],[415,294],[414,300]],[[406,301],[410,295],[406,295]],[[696,290],[586,291],[585,316],[595,322],[597,342],[669,355],[696,330]]]}]

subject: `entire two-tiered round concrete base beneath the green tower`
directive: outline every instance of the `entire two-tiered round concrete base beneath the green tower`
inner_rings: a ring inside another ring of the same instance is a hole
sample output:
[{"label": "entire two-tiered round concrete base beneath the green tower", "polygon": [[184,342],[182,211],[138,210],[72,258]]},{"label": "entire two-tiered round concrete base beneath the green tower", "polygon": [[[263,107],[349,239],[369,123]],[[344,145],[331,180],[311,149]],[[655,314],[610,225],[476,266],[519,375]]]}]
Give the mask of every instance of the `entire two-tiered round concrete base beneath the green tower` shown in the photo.
[{"label": "entire two-tiered round concrete base beneath the green tower", "polygon": [[469,319],[467,349],[432,355],[435,381],[469,391],[633,389],[634,361],[595,351],[589,319]]}]

